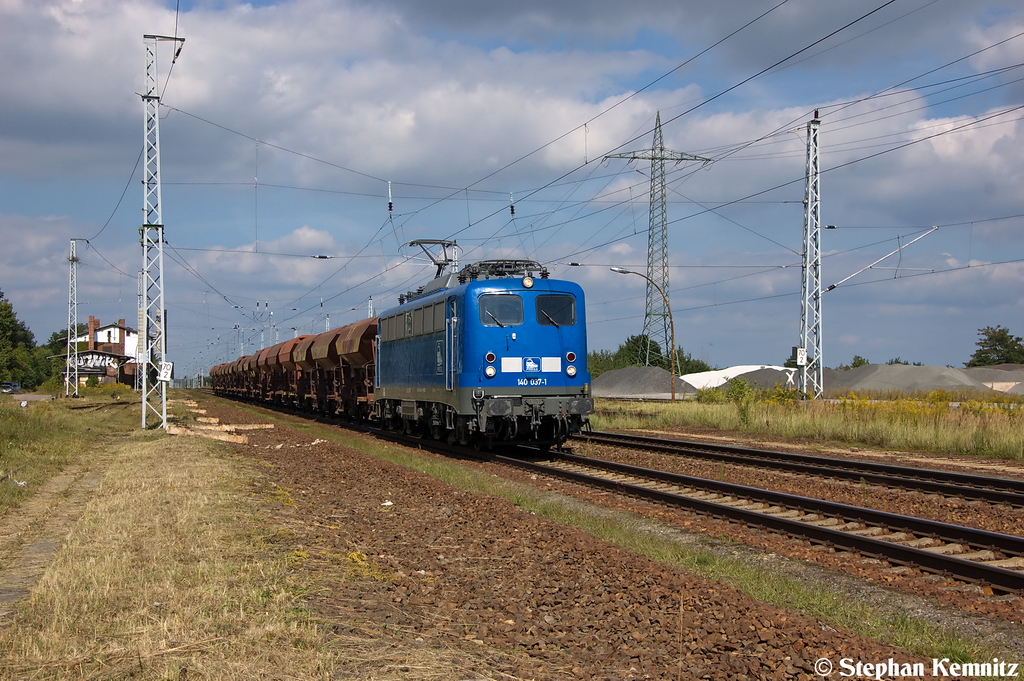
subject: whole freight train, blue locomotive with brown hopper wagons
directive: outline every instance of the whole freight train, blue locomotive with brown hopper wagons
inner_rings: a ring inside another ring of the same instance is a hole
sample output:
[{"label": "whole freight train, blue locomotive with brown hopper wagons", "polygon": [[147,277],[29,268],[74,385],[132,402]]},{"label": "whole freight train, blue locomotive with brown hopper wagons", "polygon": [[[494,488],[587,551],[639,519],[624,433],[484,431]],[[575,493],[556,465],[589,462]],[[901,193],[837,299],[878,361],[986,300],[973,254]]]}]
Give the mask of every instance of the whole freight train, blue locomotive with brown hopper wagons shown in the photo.
[{"label": "whole freight train, blue locomotive with brown hopper wagons", "polygon": [[529,260],[431,257],[434,279],[397,306],[217,365],[214,392],[462,444],[579,432],[594,411],[583,289]]}]

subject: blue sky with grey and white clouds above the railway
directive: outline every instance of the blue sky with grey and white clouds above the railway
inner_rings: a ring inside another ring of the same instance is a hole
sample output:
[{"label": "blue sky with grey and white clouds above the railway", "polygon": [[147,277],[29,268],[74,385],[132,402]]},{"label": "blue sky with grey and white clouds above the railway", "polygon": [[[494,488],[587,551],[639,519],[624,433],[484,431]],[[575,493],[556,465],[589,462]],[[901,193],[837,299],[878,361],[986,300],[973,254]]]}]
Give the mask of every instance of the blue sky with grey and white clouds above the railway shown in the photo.
[{"label": "blue sky with grey and white clouds above the railway", "polygon": [[799,340],[815,110],[826,286],[938,226],[824,294],[825,366],[958,367],[980,328],[1024,335],[1017,1],[0,0],[0,291],[39,342],[67,326],[72,239],[79,320],[135,326],[144,34],[184,39],[158,61],[178,376],[394,304],[432,275],[414,239],[545,263],[614,350],[643,326],[644,282],[608,267],[646,266],[650,166],[605,157],[649,147],[657,113],[712,159],[667,166],[693,356]]}]

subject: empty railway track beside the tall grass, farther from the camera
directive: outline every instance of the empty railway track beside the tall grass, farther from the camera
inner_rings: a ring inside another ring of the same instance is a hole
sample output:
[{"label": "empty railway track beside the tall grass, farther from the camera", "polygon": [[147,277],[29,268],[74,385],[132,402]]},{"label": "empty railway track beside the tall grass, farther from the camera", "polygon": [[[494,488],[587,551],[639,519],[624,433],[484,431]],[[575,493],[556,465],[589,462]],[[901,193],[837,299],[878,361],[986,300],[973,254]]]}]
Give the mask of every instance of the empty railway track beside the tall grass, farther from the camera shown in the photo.
[{"label": "empty railway track beside the tall grass, farther from the camera", "polygon": [[1024,508],[1024,480],[624,433],[592,432],[573,439]]}]

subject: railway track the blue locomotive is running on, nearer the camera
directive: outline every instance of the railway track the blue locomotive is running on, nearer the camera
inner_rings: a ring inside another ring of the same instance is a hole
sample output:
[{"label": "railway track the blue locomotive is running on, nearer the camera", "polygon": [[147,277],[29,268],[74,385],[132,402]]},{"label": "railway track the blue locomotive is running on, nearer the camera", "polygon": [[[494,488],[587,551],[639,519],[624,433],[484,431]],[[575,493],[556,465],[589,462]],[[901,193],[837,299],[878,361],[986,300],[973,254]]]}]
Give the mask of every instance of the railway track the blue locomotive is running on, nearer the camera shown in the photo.
[{"label": "railway track the blue locomotive is running on, nearer the camera", "polygon": [[540,475],[1024,594],[1024,538],[572,455],[546,462],[495,459]]}]

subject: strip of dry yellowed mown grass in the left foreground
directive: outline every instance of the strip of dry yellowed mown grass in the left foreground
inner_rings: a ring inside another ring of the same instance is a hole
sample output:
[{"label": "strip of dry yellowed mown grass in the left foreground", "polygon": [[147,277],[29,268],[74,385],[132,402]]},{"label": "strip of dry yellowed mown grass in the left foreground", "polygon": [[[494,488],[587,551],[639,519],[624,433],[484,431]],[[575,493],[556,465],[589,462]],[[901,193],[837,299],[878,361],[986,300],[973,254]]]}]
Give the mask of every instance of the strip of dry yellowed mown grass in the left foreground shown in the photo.
[{"label": "strip of dry yellowed mown grass in the left foreground", "polygon": [[0,676],[327,676],[337,659],[297,607],[304,586],[254,543],[242,464],[203,439],[152,436],[105,459],[82,517],[0,629]]}]

